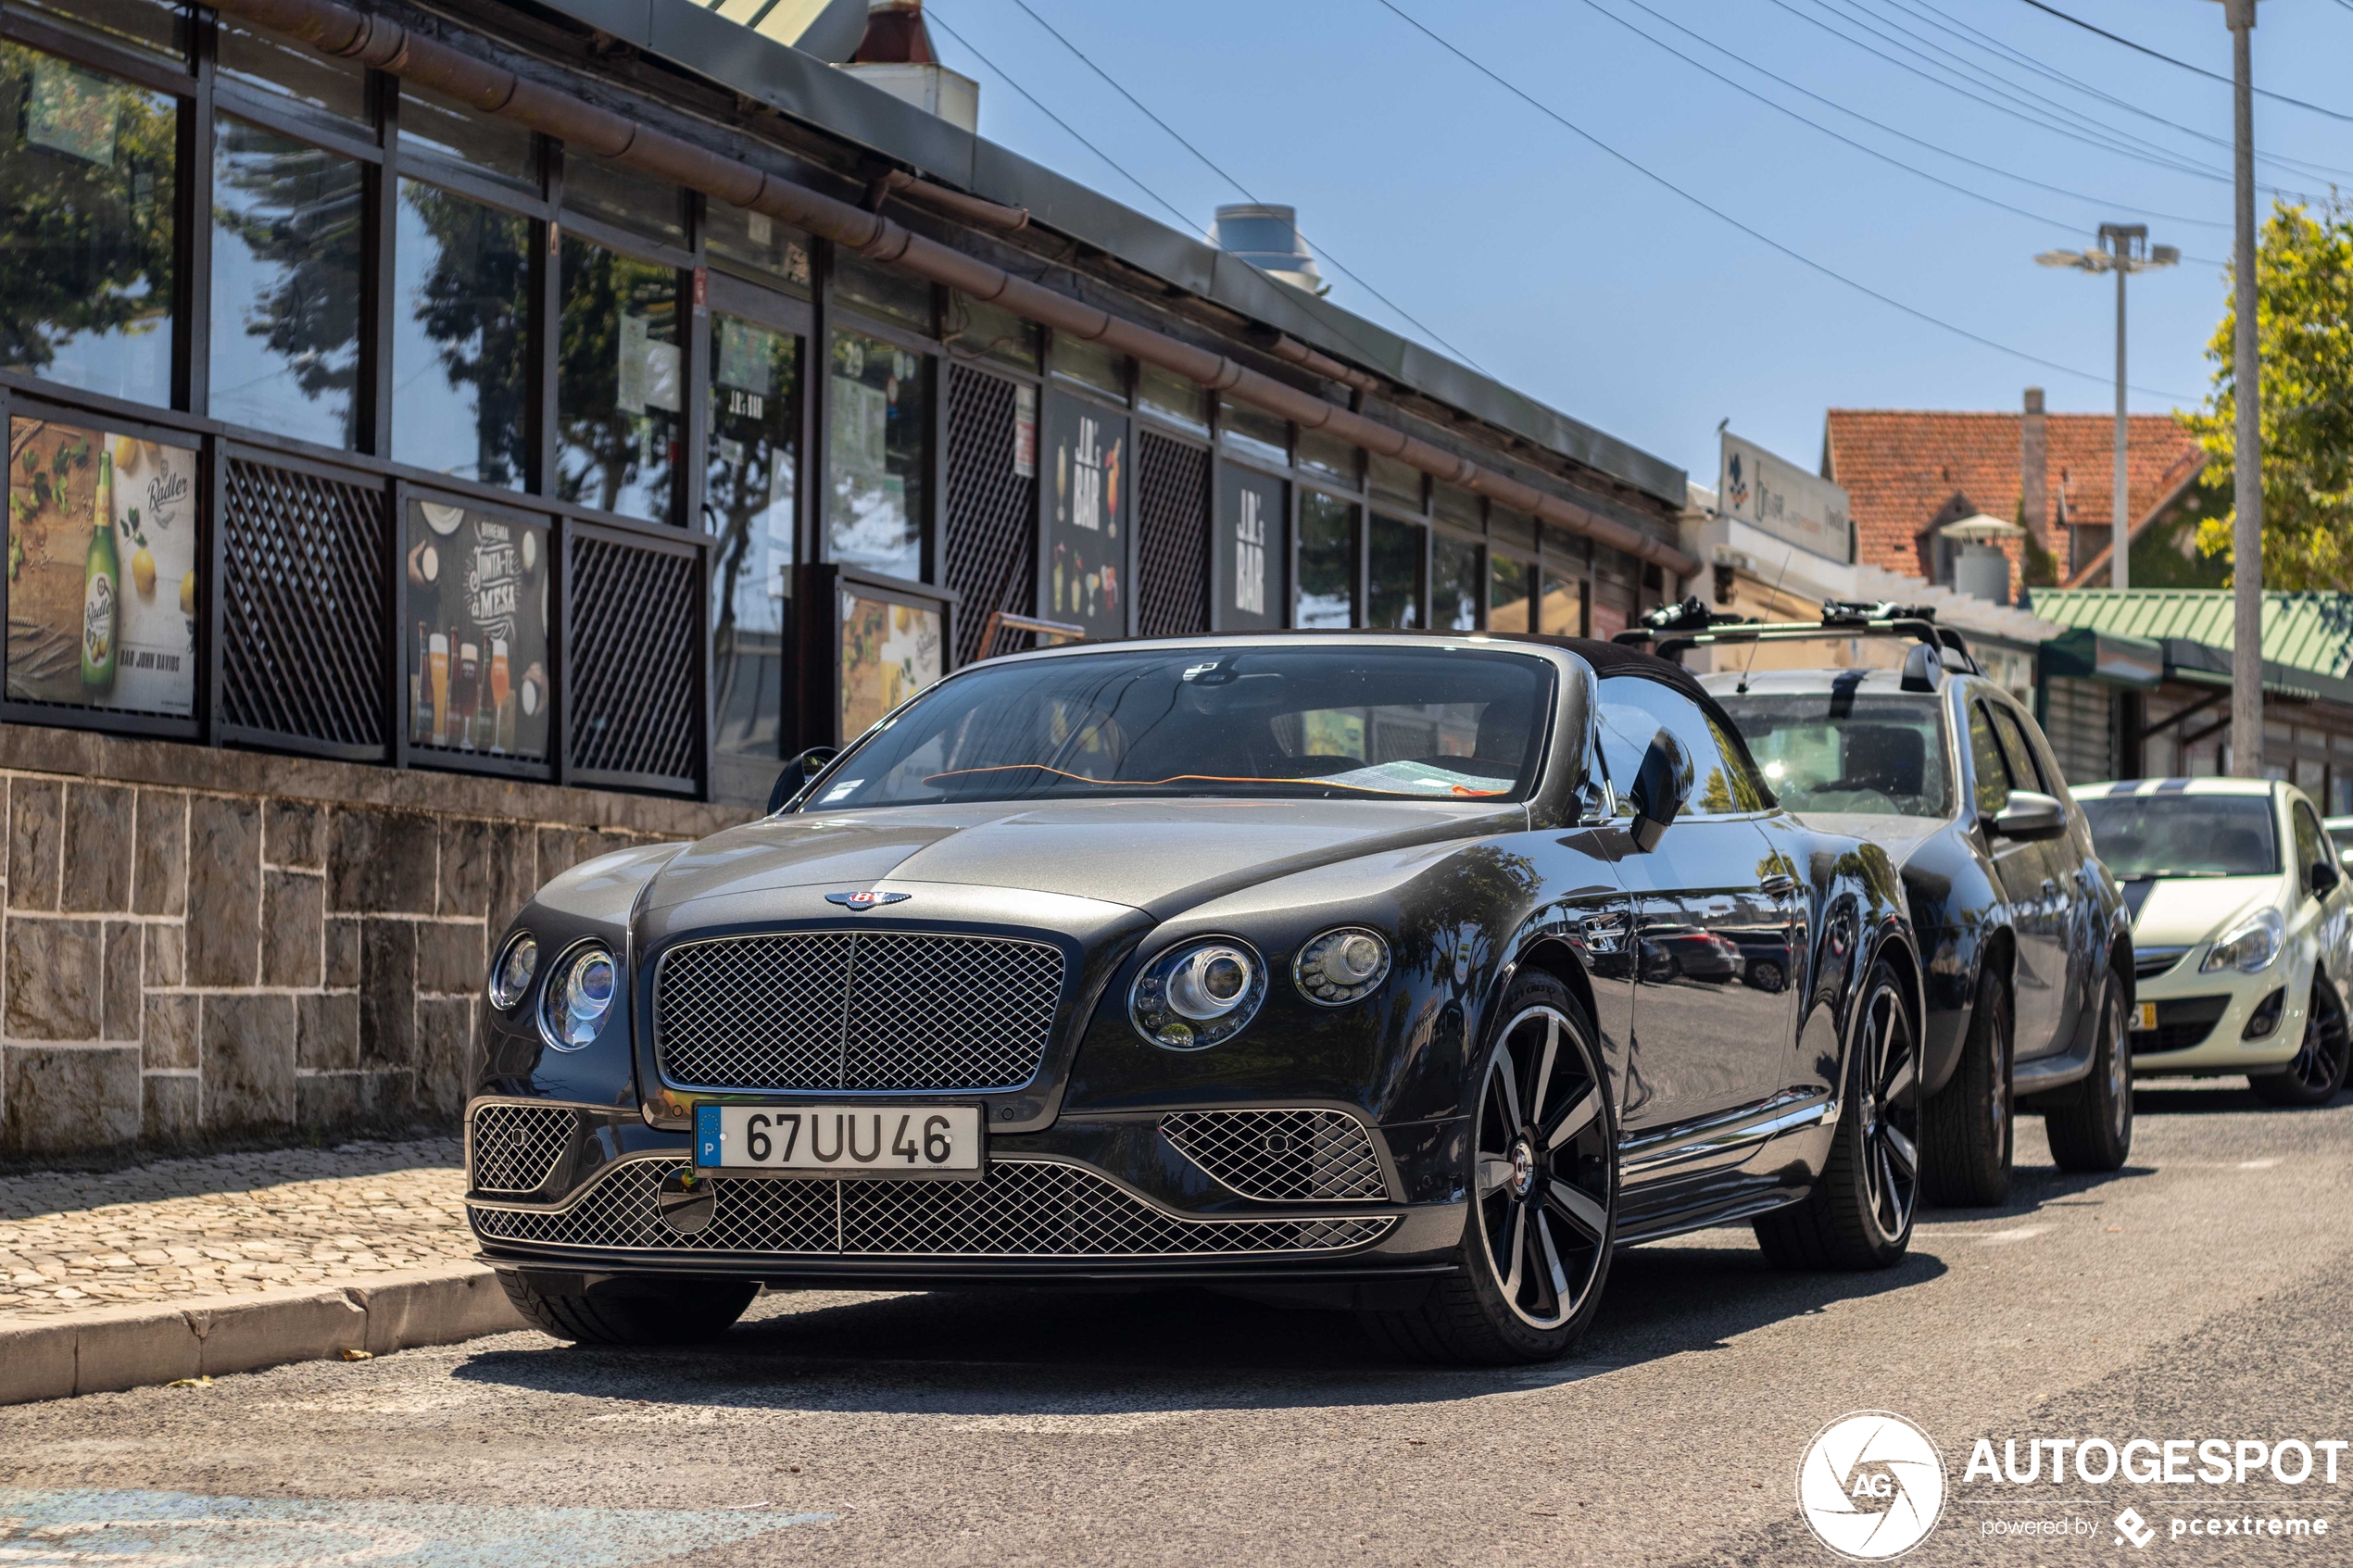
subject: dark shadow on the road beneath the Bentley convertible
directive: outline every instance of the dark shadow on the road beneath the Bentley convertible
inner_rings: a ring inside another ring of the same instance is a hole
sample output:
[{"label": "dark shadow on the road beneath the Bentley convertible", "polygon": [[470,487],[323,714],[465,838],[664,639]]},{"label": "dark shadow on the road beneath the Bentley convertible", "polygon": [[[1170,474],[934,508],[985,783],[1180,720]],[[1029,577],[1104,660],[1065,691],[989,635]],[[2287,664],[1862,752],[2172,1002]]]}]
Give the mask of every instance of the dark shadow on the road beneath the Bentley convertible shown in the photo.
[{"label": "dark shadow on the road beneath the Bentley convertible", "polygon": [[1351,1314],[1198,1288],[1005,1288],[765,1298],[708,1347],[501,1347],[468,1356],[454,1375],[642,1401],[649,1422],[680,1406],[1087,1425],[1200,1408],[1426,1403],[1558,1387],[1720,1349],[1751,1328],[1946,1272],[1941,1260],[1915,1253],[1882,1272],[1784,1274],[1753,1246],[1713,1244],[1720,1239],[1725,1232],[1619,1253],[1577,1354],[1541,1366],[1412,1366]]}]

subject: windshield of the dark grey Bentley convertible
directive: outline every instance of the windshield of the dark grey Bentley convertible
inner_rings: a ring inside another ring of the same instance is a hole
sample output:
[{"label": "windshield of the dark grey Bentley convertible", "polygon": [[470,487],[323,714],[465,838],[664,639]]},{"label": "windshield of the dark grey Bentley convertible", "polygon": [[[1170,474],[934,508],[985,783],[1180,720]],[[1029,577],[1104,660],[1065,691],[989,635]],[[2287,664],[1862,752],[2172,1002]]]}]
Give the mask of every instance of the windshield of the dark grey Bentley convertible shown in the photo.
[{"label": "windshield of the dark grey Bentley convertible", "polygon": [[1099,795],[1511,799],[1553,668],[1482,649],[1113,649],[981,665],[866,738],[812,806]]}]

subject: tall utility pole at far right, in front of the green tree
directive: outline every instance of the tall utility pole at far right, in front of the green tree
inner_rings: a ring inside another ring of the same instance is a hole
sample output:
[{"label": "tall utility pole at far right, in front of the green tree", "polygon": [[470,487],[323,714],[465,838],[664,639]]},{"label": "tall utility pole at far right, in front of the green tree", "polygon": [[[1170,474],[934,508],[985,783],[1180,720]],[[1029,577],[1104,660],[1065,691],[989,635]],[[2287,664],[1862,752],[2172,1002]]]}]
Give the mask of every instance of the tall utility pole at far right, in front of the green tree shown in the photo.
[{"label": "tall utility pole at far right, in front of the green tree", "polygon": [[2254,317],[2254,0],[2224,0],[2231,26],[2231,141],[2238,247],[2231,393],[2238,402],[2231,489],[2231,771],[2264,776],[2264,367]]}]

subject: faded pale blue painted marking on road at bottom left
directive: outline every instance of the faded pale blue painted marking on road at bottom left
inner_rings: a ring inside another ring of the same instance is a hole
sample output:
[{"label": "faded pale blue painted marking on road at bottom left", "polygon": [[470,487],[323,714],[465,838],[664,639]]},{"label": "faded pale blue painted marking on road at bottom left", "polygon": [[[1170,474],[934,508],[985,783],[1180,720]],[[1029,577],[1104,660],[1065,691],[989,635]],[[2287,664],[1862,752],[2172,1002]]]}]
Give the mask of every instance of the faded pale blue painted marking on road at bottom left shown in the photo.
[{"label": "faded pale blue painted marking on road at bottom left", "polygon": [[541,1509],[0,1488],[0,1563],[64,1568],[631,1568],[835,1514]]}]

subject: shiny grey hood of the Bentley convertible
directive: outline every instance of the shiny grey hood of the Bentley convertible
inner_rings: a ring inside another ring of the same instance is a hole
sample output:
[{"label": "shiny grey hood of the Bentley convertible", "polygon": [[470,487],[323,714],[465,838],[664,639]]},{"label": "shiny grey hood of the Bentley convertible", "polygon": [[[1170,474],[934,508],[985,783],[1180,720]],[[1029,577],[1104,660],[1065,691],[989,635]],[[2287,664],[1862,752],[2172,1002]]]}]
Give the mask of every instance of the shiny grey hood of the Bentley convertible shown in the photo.
[{"label": "shiny grey hood of the Bentley convertible", "polygon": [[826,884],[965,884],[1169,914],[1252,882],[1478,832],[1522,806],[1320,799],[1118,799],[875,806],[772,816],[675,856],[645,907]]}]

